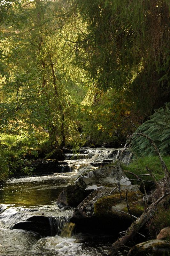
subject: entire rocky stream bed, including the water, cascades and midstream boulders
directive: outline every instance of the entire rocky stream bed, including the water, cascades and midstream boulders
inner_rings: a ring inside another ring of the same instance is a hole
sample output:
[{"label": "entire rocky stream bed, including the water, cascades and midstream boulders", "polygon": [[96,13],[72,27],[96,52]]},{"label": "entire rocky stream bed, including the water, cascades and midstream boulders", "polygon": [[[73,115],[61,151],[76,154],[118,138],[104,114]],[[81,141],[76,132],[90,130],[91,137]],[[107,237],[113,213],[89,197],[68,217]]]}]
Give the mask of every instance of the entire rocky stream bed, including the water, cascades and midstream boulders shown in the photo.
[{"label": "entire rocky stream bed, including the water, cascades and midstream boulders", "polygon": [[140,186],[119,165],[107,166],[117,159],[128,164],[131,152],[121,151],[70,150],[65,160],[37,160],[33,176],[1,185],[0,255],[108,255],[133,221],[127,195],[132,215],[143,212]]}]

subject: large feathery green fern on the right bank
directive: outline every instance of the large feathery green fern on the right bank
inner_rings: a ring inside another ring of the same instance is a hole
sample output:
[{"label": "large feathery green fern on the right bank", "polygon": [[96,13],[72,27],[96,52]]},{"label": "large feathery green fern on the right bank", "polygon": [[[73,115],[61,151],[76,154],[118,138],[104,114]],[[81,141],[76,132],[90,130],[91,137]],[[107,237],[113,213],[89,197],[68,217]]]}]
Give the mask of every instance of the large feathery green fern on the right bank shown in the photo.
[{"label": "large feathery green fern on the right bank", "polygon": [[[170,154],[170,103],[166,104],[165,108],[156,110],[150,116],[150,120],[140,125],[138,129],[156,143],[161,155]],[[133,137],[132,148],[138,156],[155,155],[153,146],[143,136]]]}]

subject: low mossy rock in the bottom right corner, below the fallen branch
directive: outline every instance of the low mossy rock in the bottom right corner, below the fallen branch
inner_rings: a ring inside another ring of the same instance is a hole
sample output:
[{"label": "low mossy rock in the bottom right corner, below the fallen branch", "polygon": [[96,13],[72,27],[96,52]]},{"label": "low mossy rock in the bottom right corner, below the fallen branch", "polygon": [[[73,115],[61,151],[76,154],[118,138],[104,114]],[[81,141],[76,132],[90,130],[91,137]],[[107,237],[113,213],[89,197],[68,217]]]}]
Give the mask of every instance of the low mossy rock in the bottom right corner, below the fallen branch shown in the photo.
[{"label": "low mossy rock in the bottom right corner, below the fallen branch", "polygon": [[136,244],[129,252],[128,256],[158,256],[170,255],[170,243],[163,240],[149,240],[141,244]]}]

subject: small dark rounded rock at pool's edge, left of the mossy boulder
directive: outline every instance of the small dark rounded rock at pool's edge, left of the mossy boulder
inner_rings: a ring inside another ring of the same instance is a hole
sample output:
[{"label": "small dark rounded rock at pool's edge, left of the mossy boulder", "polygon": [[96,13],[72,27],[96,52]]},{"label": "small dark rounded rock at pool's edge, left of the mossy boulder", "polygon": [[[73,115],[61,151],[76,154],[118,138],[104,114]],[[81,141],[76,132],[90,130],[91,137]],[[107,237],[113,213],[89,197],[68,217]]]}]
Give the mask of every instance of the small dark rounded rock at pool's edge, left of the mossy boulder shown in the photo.
[{"label": "small dark rounded rock at pool's edge, left of the mossy boulder", "polygon": [[57,204],[64,204],[66,206],[77,207],[80,204],[86,194],[82,191],[81,188],[75,185],[69,185],[61,191],[58,196]]}]

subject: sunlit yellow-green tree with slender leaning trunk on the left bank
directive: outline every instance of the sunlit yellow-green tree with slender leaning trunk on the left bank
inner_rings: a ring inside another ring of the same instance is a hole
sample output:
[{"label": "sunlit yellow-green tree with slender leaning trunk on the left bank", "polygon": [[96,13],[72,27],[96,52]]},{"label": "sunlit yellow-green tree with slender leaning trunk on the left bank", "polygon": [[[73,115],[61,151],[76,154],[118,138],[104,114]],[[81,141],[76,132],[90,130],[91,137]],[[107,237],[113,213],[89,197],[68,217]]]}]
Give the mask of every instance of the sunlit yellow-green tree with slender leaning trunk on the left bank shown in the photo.
[{"label": "sunlit yellow-green tree with slender leaning trunk on the left bank", "polygon": [[5,129],[12,120],[16,131],[22,120],[30,134],[35,128],[48,130],[51,149],[75,145],[81,140],[74,118],[77,102],[66,89],[76,80],[69,75],[76,70],[71,68],[72,48],[63,38],[67,6],[25,1],[16,16],[19,26],[8,28],[1,41],[6,64],[2,86],[6,101],[1,103],[1,116],[8,112]]}]

